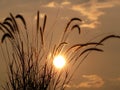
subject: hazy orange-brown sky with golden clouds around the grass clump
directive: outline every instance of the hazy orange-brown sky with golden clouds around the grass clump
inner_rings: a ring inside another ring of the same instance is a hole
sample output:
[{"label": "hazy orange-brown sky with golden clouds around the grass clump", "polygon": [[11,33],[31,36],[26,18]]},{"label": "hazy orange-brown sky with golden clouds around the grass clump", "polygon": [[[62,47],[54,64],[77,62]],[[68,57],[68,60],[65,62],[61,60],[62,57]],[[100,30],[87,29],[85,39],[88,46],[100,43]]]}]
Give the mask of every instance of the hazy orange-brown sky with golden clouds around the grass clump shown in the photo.
[{"label": "hazy orange-brown sky with golden clouds around the grass clump", "polygon": [[[70,18],[81,18],[82,34],[78,36],[74,32],[71,37],[74,42],[120,35],[120,0],[0,0],[0,22],[11,12],[24,15],[31,25],[38,10],[41,18],[45,14],[48,16],[47,29],[53,26],[57,34]],[[120,90],[120,40],[111,39],[104,44],[104,52],[92,52],[66,90]],[[1,83],[5,66],[1,59],[0,63]]]}]

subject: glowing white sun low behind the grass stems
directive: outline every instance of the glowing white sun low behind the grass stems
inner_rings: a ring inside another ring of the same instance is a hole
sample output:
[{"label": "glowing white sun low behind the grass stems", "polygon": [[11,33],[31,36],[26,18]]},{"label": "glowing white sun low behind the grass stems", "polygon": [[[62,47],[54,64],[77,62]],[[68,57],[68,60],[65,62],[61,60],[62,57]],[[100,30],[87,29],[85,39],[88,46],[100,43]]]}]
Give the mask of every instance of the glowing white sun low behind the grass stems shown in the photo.
[{"label": "glowing white sun low behind the grass stems", "polygon": [[63,68],[66,64],[66,60],[64,58],[64,56],[62,55],[58,55],[54,58],[53,60],[53,65],[56,67],[56,68]]}]

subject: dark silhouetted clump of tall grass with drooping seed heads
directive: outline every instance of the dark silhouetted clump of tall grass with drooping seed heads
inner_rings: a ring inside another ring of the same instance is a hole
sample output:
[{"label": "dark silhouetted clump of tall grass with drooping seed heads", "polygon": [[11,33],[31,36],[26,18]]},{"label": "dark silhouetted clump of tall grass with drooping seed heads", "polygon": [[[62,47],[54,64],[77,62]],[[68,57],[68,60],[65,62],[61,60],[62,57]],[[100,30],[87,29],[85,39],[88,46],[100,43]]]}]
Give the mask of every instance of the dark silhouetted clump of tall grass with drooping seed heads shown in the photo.
[{"label": "dark silhouetted clump of tall grass with drooping seed heads", "polygon": [[[43,25],[40,25],[38,11],[36,21],[34,36],[29,34],[26,21],[20,14],[13,16],[10,13],[10,16],[0,23],[0,30],[3,32],[1,42],[4,45],[1,49],[8,70],[4,90],[64,90],[91,51],[102,52],[98,46],[103,45],[104,41],[120,38],[117,35],[108,35],[97,42],[70,45],[67,42],[70,32],[76,28],[78,34],[81,34],[79,24],[82,20],[74,17],[67,23],[59,42],[51,45],[52,35],[50,41],[46,41],[45,37],[47,15],[44,16]],[[3,49],[6,50],[7,58]],[[56,70],[53,59],[61,53],[66,56],[67,64],[74,70],[67,67]]]}]

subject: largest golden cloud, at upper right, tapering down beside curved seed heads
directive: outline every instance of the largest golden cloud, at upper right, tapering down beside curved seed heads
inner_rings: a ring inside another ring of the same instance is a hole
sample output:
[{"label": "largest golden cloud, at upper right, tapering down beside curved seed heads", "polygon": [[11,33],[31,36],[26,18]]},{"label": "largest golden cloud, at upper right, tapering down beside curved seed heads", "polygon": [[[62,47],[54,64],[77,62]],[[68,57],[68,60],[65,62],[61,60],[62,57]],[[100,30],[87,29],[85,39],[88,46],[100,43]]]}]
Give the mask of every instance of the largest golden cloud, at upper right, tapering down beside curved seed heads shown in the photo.
[{"label": "largest golden cloud, at upper right, tapering down beside curved seed heads", "polygon": [[71,9],[80,12],[89,22],[91,22],[84,23],[82,25],[83,27],[95,28],[100,24],[99,17],[105,14],[101,9],[111,8],[117,4],[120,4],[120,0],[104,0],[102,2],[100,2],[100,0],[89,0],[83,4],[73,5]]}]

